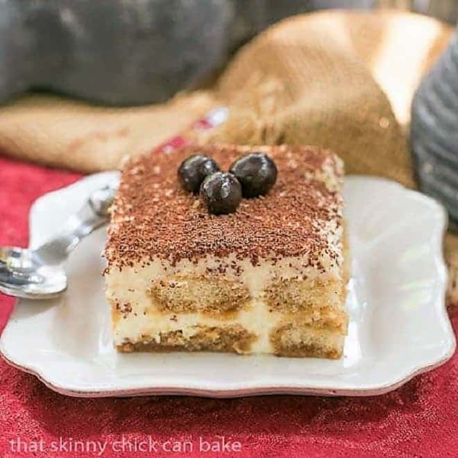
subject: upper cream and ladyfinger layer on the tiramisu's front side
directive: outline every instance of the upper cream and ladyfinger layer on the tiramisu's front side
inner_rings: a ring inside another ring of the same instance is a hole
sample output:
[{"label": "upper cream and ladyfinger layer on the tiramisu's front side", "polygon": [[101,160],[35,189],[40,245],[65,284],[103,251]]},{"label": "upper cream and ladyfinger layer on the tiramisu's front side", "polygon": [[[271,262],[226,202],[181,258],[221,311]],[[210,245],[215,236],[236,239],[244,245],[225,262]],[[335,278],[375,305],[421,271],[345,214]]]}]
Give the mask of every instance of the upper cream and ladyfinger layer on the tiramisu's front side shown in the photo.
[{"label": "upper cream and ladyfinger layer on the tiramisu's front side", "polygon": [[[224,273],[218,266],[226,266]],[[108,300],[124,312],[124,319],[131,311],[152,309],[227,320],[249,308],[252,300],[262,300],[272,311],[313,315],[321,327],[339,328],[346,322],[340,269],[321,273],[307,265],[307,257],[285,257],[275,264],[264,260],[257,266],[233,257],[207,256],[196,264],[183,260],[174,266],[156,259],[145,266],[112,269],[105,282]]]}]

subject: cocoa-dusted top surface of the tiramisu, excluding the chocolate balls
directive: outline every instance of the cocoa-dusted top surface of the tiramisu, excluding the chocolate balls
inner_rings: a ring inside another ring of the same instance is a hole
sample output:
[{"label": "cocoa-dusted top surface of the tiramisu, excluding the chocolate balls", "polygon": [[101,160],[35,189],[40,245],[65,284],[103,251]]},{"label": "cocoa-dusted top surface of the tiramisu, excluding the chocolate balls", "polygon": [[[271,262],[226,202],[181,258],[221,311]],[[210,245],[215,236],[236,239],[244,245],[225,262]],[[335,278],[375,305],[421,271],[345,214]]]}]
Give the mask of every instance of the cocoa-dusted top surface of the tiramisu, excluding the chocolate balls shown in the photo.
[{"label": "cocoa-dusted top surface of the tiramisu, excluding the chocolate balls", "polygon": [[[266,196],[242,199],[233,214],[209,214],[198,196],[180,187],[178,167],[189,155],[208,155],[228,170],[255,151],[275,161],[278,179]],[[342,178],[336,155],[309,146],[192,145],[134,158],[124,167],[112,207],[108,269],[158,257],[175,265],[235,255],[256,265],[305,254],[322,269],[321,255],[337,259],[341,250]]]}]

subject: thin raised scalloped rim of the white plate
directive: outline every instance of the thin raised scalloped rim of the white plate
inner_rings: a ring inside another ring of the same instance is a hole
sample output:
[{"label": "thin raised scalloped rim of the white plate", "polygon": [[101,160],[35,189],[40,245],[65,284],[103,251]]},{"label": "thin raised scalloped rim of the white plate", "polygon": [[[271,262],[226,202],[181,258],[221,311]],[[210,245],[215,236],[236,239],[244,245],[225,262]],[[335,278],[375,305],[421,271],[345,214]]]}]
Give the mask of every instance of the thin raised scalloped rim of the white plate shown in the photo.
[{"label": "thin raised scalloped rim of the white plate", "polygon": [[[81,187],[87,184],[89,181],[96,181],[102,180],[103,177],[113,178],[119,174],[117,171],[105,171],[101,173],[95,173],[90,176],[85,176],[82,179],[72,183],[69,186],[62,187],[60,189],[56,189],[52,192],[43,194],[31,205],[31,210],[29,213],[29,226],[31,227],[31,223],[33,220],[33,214],[36,211],[37,207],[42,205],[43,201],[46,200],[51,194],[60,194],[62,192],[72,192],[75,188]],[[370,176],[370,175],[348,175],[346,179],[350,179],[351,181],[364,181],[364,180],[372,180],[372,181],[379,181],[383,182],[391,187],[397,187],[398,189],[402,189],[402,192],[407,192],[409,194],[414,194],[416,198],[420,198],[421,200],[429,203],[430,205],[434,205],[436,210],[439,210],[441,213],[441,227],[438,228],[438,232],[442,234],[442,237],[439,237],[439,244],[436,246],[436,256],[437,259],[440,261],[441,269],[440,269],[440,285],[441,285],[441,296],[443,298],[443,307],[439,307],[437,312],[438,319],[443,319],[445,321],[445,325],[447,328],[447,343],[448,348],[446,351],[443,352],[443,355],[434,362],[430,364],[417,364],[409,368],[408,371],[400,373],[396,378],[393,378],[392,382],[385,383],[385,384],[375,384],[372,387],[355,387],[355,388],[332,388],[326,387],[323,384],[320,386],[310,386],[310,383],[307,383],[307,387],[305,386],[294,386],[294,384],[271,384],[270,386],[266,386],[266,384],[262,384],[257,382],[257,387],[248,387],[248,388],[235,388],[235,389],[218,389],[218,388],[210,388],[210,389],[201,389],[201,388],[193,388],[180,386],[180,384],[176,384],[176,386],[159,386],[153,385],[150,387],[137,387],[131,389],[73,389],[69,387],[62,386],[62,384],[56,384],[53,382],[52,377],[50,378],[49,375],[46,376],[42,368],[37,368],[33,364],[25,364],[24,362],[19,363],[15,361],[14,357],[8,355],[6,348],[4,348],[4,339],[3,336],[5,335],[5,331],[10,325],[12,319],[11,316],[8,319],[8,322],[3,328],[3,332],[1,332],[0,336],[0,356],[11,366],[18,368],[21,371],[26,373],[31,373],[35,375],[42,383],[44,383],[47,387],[52,389],[53,391],[57,391],[58,393],[64,394],[66,396],[73,396],[78,398],[101,398],[101,397],[110,397],[110,396],[146,396],[146,395],[180,395],[180,396],[201,396],[201,397],[210,397],[210,398],[235,398],[240,396],[262,396],[268,394],[296,394],[296,395],[319,395],[319,396],[375,396],[387,393],[398,387],[402,386],[412,378],[416,377],[421,373],[425,373],[427,371],[431,371],[436,367],[445,364],[455,353],[456,349],[456,338],[455,332],[452,329],[452,325],[450,323],[450,318],[447,312],[446,306],[446,287],[448,285],[448,269],[446,267],[446,262],[443,257],[443,235],[447,229],[448,223],[448,215],[446,213],[445,208],[441,203],[436,201],[436,199],[426,196],[421,192],[418,192],[414,189],[409,189],[402,184],[389,180],[388,178],[378,177],[378,176]],[[33,232],[30,232],[30,240],[31,246],[35,243],[35,237],[33,236]],[[243,357],[243,356],[242,356]]]}]

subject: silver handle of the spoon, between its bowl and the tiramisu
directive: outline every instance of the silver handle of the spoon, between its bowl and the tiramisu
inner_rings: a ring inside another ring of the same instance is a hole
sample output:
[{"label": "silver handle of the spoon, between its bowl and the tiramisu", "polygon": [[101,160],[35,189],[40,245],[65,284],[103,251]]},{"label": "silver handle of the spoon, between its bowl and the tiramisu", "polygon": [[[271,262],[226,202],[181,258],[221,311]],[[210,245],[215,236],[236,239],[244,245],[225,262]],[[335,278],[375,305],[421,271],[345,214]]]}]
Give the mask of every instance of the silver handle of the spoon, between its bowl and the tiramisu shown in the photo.
[{"label": "silver handle of the spoon, between its bowl and the tiramisu", "polygon": [[34,251],[40,263],[61,264],[84,237],[103,226],[108,221],[108,210],[116,189],[113,184],[92,192],[85,205],[69,217],[58,235]]}]

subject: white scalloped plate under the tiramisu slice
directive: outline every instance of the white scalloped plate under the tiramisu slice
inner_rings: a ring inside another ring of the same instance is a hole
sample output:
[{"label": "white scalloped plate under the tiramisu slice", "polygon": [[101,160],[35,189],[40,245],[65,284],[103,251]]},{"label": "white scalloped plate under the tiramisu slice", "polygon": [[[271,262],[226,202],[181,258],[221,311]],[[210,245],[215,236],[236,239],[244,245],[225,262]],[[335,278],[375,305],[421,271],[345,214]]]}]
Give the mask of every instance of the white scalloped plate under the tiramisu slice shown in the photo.
[{"label": "white scalloped plate under the tiramisu slice", "polygon": [[[56,230],[101,173],[40,198],[31,210],[31,245]],[[369,177],[345,187],[353,278],[344,356],[326,359],[217,353],[117,354],[103,299],[105,229],[88,237],[67,264],[58,300],[19,300],[1,336],[10,364],[71,396],[300,393],[364,396],[399,387],[443,364],[455,350],[444,307],[446,214],[431,198]]]}]

